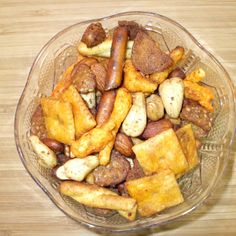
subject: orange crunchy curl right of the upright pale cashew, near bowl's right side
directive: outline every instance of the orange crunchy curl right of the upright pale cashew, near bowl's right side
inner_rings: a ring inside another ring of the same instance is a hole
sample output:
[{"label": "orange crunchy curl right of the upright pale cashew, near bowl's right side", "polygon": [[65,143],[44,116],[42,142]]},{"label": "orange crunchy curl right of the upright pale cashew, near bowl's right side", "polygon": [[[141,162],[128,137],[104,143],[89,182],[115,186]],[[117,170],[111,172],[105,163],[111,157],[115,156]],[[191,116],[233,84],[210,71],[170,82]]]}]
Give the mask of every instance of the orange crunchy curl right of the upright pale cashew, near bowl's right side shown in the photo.
[{"label": "orange crunchy curl right of the upright pale cashew, near bowl's right side", "polygon": [[184,95],[186,98],[197,101],[208,111],[214,111],[211,102],[215,98],[215,96],[209,88],[188,80],[184,80]]}]

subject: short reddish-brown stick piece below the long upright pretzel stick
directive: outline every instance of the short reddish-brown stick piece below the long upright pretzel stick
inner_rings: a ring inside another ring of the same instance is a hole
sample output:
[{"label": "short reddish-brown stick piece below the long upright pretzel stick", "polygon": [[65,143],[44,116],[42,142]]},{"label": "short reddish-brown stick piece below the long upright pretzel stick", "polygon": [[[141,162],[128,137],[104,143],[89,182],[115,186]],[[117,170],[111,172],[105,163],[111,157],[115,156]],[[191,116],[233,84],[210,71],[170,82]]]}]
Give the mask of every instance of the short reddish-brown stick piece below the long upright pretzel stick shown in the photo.
[{"label": "short reddish-brown stick piece below the long upright pretzel stick", "polygon": [[97,110],[96,122],[98,125],[104,124],[110,117],[114,102],[116,99],[116,92],[114,90],[103,93]]}]

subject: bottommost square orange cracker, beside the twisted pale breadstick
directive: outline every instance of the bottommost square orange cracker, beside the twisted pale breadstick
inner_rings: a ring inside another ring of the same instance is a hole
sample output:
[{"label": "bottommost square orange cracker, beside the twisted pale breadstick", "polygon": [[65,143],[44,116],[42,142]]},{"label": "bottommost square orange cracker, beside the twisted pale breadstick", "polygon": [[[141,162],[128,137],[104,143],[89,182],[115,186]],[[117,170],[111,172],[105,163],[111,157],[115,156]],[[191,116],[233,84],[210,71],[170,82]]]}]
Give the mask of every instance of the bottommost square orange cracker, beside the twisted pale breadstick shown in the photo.
[{"label": "bottommost square orange cracker, beside the twisted pale breadstick", "polygon": [[129,195],[138,203],[141,216],[151,216],[184,201],[173,172],[159,174],[126,182]]}]

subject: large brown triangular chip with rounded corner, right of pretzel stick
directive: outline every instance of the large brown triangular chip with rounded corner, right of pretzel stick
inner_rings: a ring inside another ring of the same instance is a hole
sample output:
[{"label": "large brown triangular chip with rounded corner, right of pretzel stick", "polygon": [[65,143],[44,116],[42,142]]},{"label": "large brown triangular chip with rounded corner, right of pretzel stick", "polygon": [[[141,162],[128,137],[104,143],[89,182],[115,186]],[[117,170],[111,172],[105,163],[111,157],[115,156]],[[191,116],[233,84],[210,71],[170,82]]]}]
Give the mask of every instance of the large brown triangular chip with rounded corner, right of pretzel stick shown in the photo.
[{"label": "large brown triangular chip with rounded corner, right of pretzel stick", "polygon": [[161,72],[173,64],[171,57],[162,52],[144,31],[139,31],[134,40],[131,59],[135,68],[143,74]]}]

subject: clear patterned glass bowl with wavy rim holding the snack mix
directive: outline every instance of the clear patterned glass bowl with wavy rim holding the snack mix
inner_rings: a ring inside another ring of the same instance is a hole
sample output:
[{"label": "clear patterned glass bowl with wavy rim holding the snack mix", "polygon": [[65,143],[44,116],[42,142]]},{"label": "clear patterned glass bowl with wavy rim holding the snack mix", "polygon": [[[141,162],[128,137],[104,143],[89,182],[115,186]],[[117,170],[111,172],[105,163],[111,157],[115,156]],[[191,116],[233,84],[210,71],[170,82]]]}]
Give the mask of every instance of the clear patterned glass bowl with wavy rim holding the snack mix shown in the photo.
[{"label": "clear patterned glass bowl with wavy rim holding the snack mix", "polygon": [[[84,30],[92,22],[101,22],[106,29],[117,25],[119,20],[134,20],[152,31],[163,50],[169,51],[176,46],[183,46],[187,52],[180,64],[185,72],[201,66],[206,71],[205,84],[216,95],[214,102],[215,122],[199,150],[201,163],[178,182],[185,201],[160,214],[138,218],[128,222],[118,214],[111,212],[99,214],[94,209],[85,207],[70,198],[61,196],[57,190],[58,182],[49,171],[40,167],[29,144],[30,119],[40,98],[48,96],[65,69],[77,59],[76,45]],[[129,232],[157,227],[183,216],[198,207],[220,181],[229,160],[230,148],[235,129],[235,105],[233,84],[222,65],[203,48],[197,40],[177,22],[149,12],[125,12],[100,19],[80,22],[54,36],[40,51],[34,61],[24,91],[19,100],[15,116],[15,140],[20,158],[48,197],[64,213],[77,222],[97,231]]]}]

